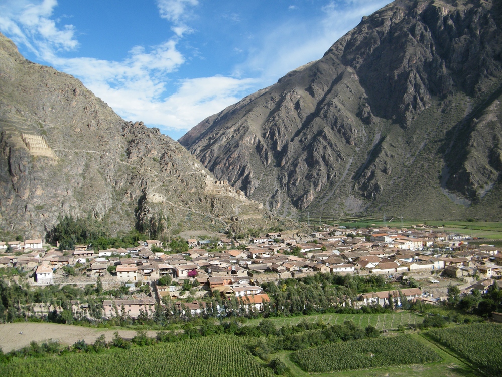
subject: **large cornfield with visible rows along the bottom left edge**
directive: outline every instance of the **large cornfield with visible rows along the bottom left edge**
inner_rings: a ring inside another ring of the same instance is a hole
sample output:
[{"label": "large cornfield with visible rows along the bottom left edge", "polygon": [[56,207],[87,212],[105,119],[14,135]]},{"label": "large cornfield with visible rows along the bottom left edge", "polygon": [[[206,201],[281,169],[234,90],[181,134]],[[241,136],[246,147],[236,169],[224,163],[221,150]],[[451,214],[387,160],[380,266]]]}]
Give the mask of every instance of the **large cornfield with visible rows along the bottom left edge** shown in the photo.
[{"label": "large cornfield with visible rows along the bottom left edge", "polygon": [[2,376],[107,377],[272,377],[272,371],[245,349],[244,339],[210,336],[103,354],[69,354],[18,359],[2,366]]}]

